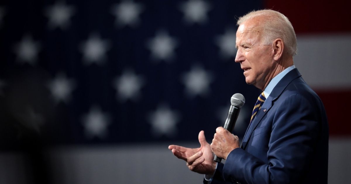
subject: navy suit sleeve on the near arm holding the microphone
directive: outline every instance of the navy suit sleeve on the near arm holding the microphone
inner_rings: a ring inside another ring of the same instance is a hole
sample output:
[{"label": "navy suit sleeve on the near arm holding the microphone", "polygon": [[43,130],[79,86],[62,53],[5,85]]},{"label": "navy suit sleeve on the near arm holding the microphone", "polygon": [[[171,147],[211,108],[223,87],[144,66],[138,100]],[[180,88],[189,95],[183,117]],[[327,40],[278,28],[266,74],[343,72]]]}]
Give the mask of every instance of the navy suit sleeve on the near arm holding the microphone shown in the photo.
[{"label": "navy suit sleeve on the near arm holding the microphone", "polygon": [[241,148],[234,149],[223,168],[225,180],[241,183],[296,183],[308,169],[319,134],[318,105],[299,94],[279,104],[272,122],[268,163]]}]

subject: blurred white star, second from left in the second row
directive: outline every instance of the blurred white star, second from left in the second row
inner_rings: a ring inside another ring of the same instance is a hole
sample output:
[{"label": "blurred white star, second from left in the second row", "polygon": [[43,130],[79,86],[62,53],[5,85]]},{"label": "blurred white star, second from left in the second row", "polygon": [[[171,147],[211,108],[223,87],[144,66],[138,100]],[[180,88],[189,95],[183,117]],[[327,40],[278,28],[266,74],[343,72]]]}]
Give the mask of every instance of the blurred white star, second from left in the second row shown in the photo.
[{"label": "blurred white star, second from left in the second row", "polygon": [[108,40],[102,40],[99,35],[92,34],[87,41],[81,44],[85,64],[102,64],[106,60],[106,52],[110,49]]}]

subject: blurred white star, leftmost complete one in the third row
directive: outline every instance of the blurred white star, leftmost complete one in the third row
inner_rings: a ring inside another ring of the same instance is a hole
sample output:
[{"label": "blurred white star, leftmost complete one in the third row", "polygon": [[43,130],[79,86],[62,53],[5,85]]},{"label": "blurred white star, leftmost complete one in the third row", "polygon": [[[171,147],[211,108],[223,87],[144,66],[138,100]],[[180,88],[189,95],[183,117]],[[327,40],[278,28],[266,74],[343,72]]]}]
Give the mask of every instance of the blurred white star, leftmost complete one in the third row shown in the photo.
[{"label": "blurred white star, leftmost complete one in the third row", "polygon": [[74,86],[74,81],[67,79],[66,75],[63,73],[58,74],[55,79],[50,81],[48,84],[56,103],[60,101],[68,103]]}]

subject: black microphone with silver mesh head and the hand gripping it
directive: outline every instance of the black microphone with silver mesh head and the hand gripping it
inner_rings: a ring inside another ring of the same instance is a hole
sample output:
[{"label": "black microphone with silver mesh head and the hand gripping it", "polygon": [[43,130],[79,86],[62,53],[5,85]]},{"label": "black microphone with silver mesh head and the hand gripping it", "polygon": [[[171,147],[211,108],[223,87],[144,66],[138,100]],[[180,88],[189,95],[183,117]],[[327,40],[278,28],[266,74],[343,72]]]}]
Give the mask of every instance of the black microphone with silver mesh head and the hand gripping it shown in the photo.
[{"label": "black microphone with silver mesh head and the hand gripping it", "polygon": [[[231,102],[231,106],[229,108],[227,119],[224,123],[224,128],[218,127],[216,129],[216,134],[214,135],[214,138],[211,144],[211,149],[214,152],[214,154],[221,153],[220,157],[214,156],[213,160],[216,162],[221,162],[222,160],[221,157],[224,157],[224,155],[222,154],[223,152],[228,152],[228,150],[229,151],[233,150],[233,148],[231,148],[230,145],[234,144],[235,146],[238,146],[239,144],[238,137],[232,135],[231,132],[234,129],[235,123],[237,121],[237,118],[240,112],[240,108],[243,107],[243,105],[245,104],[245,97],[240,93],[236,93],[231,97],[230,102]],[[225,142],[224,140],[227,140],[227,141]]]}]

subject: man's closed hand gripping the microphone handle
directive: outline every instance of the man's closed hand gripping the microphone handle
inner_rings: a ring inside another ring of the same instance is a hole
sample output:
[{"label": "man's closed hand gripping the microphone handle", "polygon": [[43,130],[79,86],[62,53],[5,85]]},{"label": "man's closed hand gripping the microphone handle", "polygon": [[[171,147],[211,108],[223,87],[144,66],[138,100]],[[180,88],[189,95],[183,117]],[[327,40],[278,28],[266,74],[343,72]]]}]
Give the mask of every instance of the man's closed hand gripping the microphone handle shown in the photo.
[{"label": "man's closed hand gripping the microphone handle", "polygon": [[216,129],[213,136],[211,149],[217,157],[226,159],[233,149],[239,148],[239,138],[223,127]]}]

